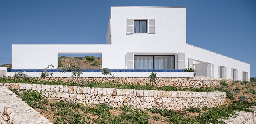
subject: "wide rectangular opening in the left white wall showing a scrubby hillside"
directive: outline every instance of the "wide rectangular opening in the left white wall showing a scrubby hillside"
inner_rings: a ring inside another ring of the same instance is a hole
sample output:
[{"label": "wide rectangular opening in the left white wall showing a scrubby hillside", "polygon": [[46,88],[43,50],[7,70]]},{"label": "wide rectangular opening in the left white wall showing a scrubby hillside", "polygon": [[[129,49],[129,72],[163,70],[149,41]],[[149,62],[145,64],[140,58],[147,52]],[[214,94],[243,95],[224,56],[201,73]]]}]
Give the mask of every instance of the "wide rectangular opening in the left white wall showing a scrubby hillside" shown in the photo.
[{"label": "wide rectangular opening in the left white wall showing a scrubby hillside", "polygon": [[79,66],[81,69],[101,69],[102,58],[101,53],[88,54],[64,54],[58,53],[58,67],[70,66],[70,63]]}]

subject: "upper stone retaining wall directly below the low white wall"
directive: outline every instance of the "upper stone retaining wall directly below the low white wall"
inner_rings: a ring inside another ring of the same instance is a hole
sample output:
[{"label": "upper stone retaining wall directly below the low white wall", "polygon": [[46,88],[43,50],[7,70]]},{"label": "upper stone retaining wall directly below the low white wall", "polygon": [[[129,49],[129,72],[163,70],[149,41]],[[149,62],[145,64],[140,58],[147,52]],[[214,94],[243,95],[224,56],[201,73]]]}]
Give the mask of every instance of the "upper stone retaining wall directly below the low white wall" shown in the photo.
[{"label": "upper stone retaining wall directly below the low white wall", "polygon": [[[46,80],[52,81],[56,79],[61,79],[62,81],[70,81],[70,77],[47,77]],[[104,81],[111,81],[110,77],[81,77],[80,79],[84,79],[85,81],[94,81],[94,82],[104,82]],[[79,80],[80,80],[79,79]],[[74,80],[77,82],[77,80]],[[141,85],[151,84],[150,77],[142,78],[142,77],[114,77],[113,81],[116,83],[139,83]],[[156,78],[156,85],[157,86],[166,86],[172,85],[175,87],[180,88],[199,88],[199,87],[211,87],[220,85],[221,81],[232,82],[232,79],[226,78],[214,78],[214,77],[157,77]]]}]

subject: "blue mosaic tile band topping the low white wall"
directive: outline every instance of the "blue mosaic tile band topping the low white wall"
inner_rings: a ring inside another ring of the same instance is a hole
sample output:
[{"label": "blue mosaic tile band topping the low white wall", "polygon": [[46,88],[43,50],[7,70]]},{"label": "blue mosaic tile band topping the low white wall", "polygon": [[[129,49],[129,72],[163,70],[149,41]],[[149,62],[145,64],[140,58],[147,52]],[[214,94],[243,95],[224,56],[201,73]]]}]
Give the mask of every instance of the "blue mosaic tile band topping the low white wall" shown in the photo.
[{"label": "blue mosaic tile band topping the low white wall", "polygon": [[[81,69],[83,72],[102,72],[102,69]],[[42,72],[44,69],[11,69],[7,72]],[[184,69],[110,69],[110,72],[184,72]],[[47,72],[61,72],[59,69],[48,69]]]}]

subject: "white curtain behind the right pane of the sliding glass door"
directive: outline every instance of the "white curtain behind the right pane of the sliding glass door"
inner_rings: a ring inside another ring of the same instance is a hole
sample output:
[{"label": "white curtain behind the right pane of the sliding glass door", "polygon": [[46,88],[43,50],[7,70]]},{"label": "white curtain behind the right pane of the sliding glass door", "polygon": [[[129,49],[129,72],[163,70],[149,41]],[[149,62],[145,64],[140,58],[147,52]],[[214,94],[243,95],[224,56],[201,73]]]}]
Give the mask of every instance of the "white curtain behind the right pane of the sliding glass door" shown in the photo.
[{"label": "white curtain behind the right pane of the sliding glass door", "polygon": [[155,56],[155,69],[174,69],[173,56]]}]

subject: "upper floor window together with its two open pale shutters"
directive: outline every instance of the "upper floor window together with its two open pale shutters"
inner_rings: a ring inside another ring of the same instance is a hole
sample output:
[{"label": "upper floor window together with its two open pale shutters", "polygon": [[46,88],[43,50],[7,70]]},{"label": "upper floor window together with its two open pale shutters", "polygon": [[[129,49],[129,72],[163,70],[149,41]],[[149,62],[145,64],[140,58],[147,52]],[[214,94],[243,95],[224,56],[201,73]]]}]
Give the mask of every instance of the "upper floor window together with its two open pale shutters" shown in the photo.
[{"label": "upper floor window together with its two open pale shutters", "polygon": [[126,19],[126,34],[154,34],[155,19]]}]

